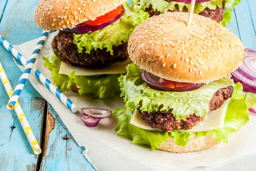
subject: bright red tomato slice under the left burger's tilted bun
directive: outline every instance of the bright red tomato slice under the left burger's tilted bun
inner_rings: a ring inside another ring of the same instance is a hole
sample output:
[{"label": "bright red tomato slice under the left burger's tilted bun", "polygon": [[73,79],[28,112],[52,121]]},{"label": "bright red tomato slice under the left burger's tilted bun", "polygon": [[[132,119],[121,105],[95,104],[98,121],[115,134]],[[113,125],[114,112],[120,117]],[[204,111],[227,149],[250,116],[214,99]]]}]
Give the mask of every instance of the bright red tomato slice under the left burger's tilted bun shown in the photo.
[{"label": "bright red tomato slice under the left burger's tilted bun", "polygon": [[88,20],[83,22],[84,24],[90,25],[90,26],[98,26],[101,25],[105,22],[108,22],[109,20],[112,20],[113,18],[115,18],[117,15],[119,15],[122,11],[122,5],[120,5],[119,7],[117,7],[116,9],[104,14],[103,16],[99,16],[96,18],[96,20]]}]

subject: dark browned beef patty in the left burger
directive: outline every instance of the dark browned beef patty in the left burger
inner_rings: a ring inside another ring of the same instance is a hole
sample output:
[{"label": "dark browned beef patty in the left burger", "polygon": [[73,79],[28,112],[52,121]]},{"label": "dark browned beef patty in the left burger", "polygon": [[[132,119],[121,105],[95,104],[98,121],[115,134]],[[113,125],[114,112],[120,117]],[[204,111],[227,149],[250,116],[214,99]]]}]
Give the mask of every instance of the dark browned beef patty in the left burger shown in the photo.
[{"label": "dark browned beef patty in the left burger", "polygon": [[113,46],[113,55],[107,48],[92,49],[90,53],[78,52],[76,44],[73,43],[73,34],[59,31],[52,41],[52,48],[55,55],[64,62],[72,65],[82,65],[88,68],[100,69],[117,61],[128,59],[127,42],[119,46]]}]

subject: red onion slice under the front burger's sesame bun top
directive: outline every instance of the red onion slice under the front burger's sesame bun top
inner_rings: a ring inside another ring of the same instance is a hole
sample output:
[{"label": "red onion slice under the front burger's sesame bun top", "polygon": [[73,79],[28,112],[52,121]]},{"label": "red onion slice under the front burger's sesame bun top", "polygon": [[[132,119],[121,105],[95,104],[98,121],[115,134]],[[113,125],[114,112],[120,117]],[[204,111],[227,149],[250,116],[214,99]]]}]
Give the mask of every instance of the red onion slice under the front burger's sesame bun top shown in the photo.
[{"label": "red onion slice under the front burger's sesame bun top", "polygon": [[149,73],[144,69],[141,71],[141,78],[150,88],[156,89],[159,91],[190,91],[190,90],[198,89],[204,85],[203,83],[200,83],[200,84],[190,84],[184,87],[175,87],[175,88],[165,87],[164,85],[160,84],[157,81],[157,78],[158,78],[157,76],[155,76],[152,73]]}]

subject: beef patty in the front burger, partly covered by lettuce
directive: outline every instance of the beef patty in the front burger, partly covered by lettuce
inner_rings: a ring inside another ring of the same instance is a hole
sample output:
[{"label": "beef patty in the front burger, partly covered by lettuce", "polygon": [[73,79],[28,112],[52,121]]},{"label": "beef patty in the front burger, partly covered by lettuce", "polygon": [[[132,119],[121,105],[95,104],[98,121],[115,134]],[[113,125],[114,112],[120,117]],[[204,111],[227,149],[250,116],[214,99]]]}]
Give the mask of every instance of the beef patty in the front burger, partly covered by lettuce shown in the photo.
[{"label": "beef patty in the front burger, partly covered by lettuce", "polygon": [[[228,86],[219,89],[214,93],[213,98],[209,103],[209,110],[213,111],[220,108],[225,100],[230,98],[233,94],[234,88]],[[139,102],[141,106],[142,101]],[[141,119],[148,123],[151,128],[157,128],[161,131],[172,131],[175,129],[191,129],[198,122],[204,120],[203,117],[196,116],[194,113],[186,117],[185,120],[176,120],[172,113],[173,109],[160,111],[163,105],[160,105],[157,111],[152,111],[148,113],[147,111],[141,111],[138,108],[139,113],[141,113]]]}]

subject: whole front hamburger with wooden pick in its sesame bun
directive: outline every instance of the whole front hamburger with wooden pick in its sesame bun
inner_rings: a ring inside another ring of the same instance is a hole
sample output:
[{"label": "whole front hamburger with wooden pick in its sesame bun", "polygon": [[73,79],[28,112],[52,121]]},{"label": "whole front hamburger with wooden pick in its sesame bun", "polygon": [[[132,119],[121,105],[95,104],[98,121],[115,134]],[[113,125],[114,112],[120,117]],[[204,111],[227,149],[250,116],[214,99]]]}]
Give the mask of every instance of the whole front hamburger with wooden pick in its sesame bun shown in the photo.
[{"label": "whole front hamburger with wooden pick in its sesame bun", "polygon": [[249,120],[252,93],[230,73],[242,63],[241,41],[221,24],[189,13],[152,16],[132,32],[134,62],[119,78],[125,105],[112,112],[115,131],[168,152],[190,152],[228,142]]}]

